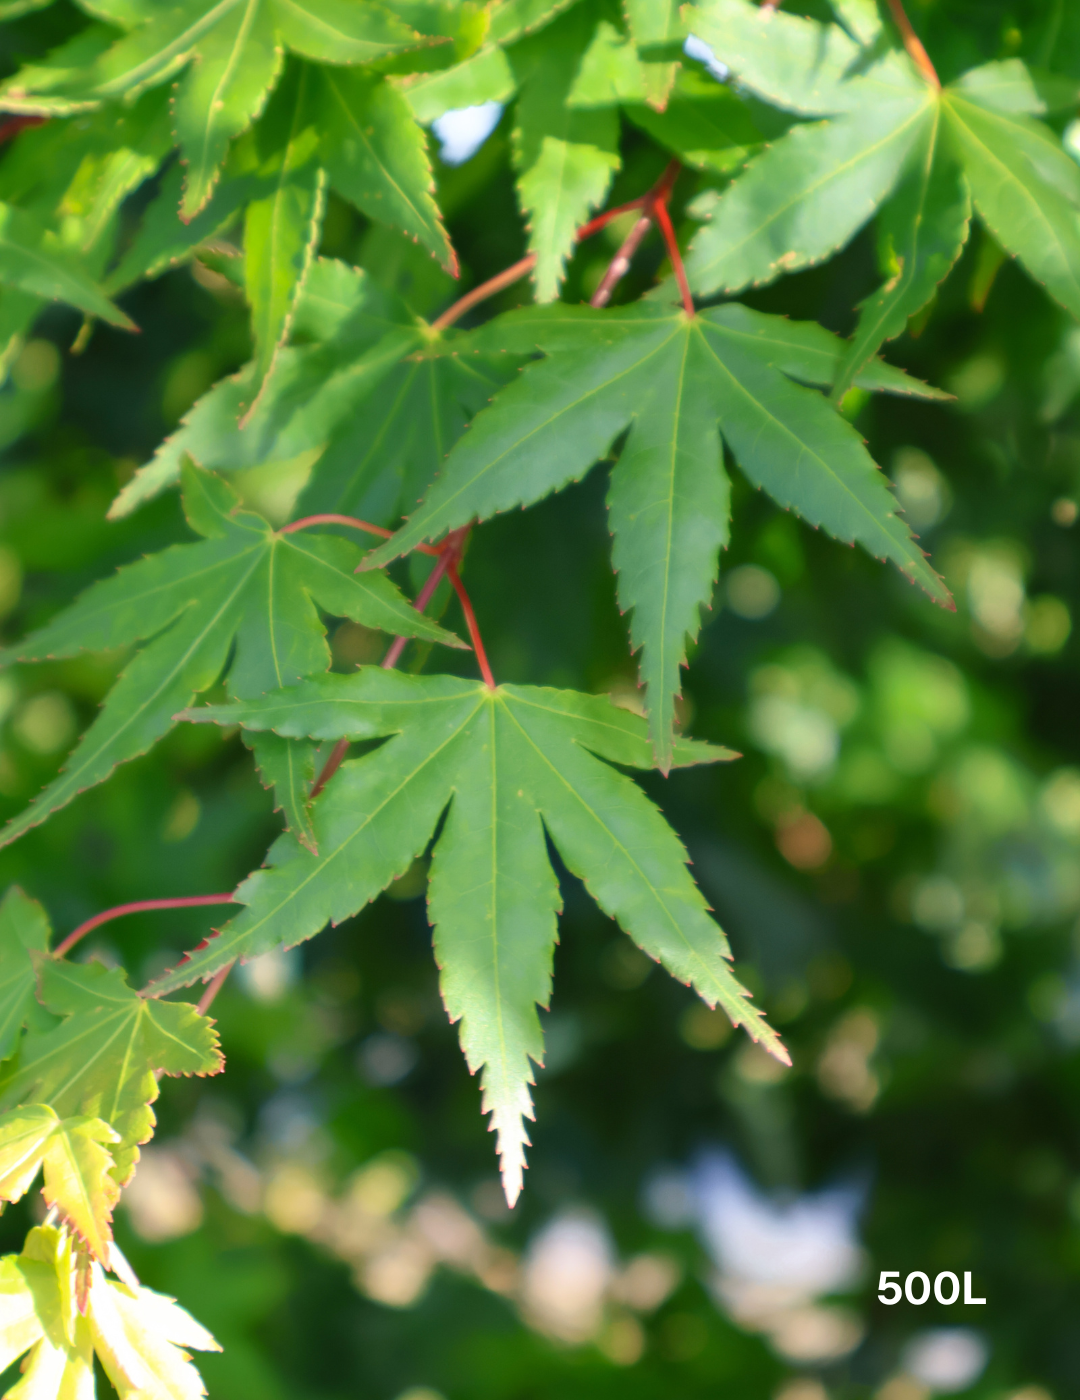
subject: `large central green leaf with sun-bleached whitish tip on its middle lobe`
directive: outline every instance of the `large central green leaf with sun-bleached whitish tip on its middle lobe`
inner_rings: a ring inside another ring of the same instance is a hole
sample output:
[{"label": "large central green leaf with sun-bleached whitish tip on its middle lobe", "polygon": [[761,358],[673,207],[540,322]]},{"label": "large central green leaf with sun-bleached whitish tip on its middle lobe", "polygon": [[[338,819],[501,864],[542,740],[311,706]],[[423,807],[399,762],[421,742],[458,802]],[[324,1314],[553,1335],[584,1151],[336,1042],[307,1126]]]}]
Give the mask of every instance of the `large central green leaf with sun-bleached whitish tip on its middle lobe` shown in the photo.
[{"label": "large central green leaf with sun-bleached whitish tip on its middle lobe", "polygon": [[[560,909],[545,832],[650,958],[786,1058],[730,970],[685,850],[630,778],[608,766],[651,766],[644,724],[609,700],[367,666],[188,718],[290,738],[395,738],[346,762],[319,798],[319,854],[283,837],[270,868],[241,885],[244,913],[151,990],[164,994],[234,958],[293,946],[357,913],[424,850],[450,805],[431,865],[436,959],[469,1065],[483,1070],[511,1203],[528,1141],[522,1119],[532,1116],[531,1061],[544,1053],[536,1005],[549,998]],[[727,757],[685,741],[672,755],[679,766]]]}]

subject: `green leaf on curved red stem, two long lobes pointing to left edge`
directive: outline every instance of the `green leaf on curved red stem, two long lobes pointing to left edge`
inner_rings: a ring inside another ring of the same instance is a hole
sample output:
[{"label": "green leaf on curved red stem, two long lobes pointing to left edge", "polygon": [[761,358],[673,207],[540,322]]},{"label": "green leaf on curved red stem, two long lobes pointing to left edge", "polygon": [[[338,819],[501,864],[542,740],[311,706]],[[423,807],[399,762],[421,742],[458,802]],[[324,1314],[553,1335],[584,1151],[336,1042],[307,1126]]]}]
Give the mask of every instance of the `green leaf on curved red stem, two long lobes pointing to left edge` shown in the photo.
[{"label": "green leaf on curved red stem, two long lobes pointing to left edge", "polygon": [[7,844],[146,752],[174,715],[226,668],[234,694],[259,694],[329,669],[317,605],[392,634],[459,645],[423,619],[384,577],[353,570],[352,540],[279,535],[241,511],[233,490],[193,463],[184,508],[203,539],[130,564],[91,587],[71,608],[0,655],[6,662],[73,657],[151,638],[120,675],[60,776],[0,832]]}]

